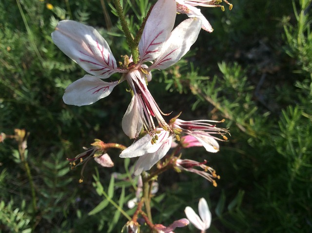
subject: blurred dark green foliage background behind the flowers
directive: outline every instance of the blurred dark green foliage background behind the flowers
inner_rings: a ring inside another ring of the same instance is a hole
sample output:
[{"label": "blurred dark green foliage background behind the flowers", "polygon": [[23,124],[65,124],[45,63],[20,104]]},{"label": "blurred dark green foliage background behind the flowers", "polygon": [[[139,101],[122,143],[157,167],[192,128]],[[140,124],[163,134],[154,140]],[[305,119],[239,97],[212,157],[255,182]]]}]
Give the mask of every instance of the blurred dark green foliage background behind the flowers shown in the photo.
[{"label": "blurred dark green foliage background behind the flowers", "polygon": [[[154,2],[123,0],[134,35]],[[218,186],[167,171],[158,177],[153,220],[169,225],[185,217],[186,206],[197,212],[205,197],[210,233],[311,233],[311,0],[231,3],[232,11],[223,3],[225,12],[202,7],[214,32],[202,30],[175,66],[153,71],[148,87],[163,112],[182,111],[186,120],[224,118],[220,126],[231,132],[217,154],[182,151],[183,158],[207,159],[221,176]],[[121,130],[131,99],[127,86],[90,106],[65,105],[64,89],[85,71],[51,39],[59,20],[77,20],[96,27],[123,62],[129,50],[112,4],[0,1],[0,232],[120,232],[127,219],[113,205],[90,213],[105,199],[101,188],[134,213],[126,205],[135,196],[132,185],[116,180],[113,189],[111,174],[127,173],[135,159],[121,159],[112,149],[115,167],[90,161],[83,183],[81,167],[70,171],[66,160],[95,138],[131,145]],[[183,19],[177,15],[177,22]],[[199,231],[190,225],[176,232]]]}]

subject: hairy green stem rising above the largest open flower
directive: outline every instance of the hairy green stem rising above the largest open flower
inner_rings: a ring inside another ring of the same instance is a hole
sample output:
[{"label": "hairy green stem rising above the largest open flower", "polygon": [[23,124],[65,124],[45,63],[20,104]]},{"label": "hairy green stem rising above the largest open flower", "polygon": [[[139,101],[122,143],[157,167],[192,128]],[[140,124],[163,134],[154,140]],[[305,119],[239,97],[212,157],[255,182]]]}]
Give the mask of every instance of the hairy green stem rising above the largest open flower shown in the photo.
[{"label": "hairy green stem rising above the largest open flower", "polygon": [[130,47],[133,62],[137,63],[139,61],[139,53],[137,50],[137,43],[135,43],[135,41],[131,35],[131,32],[129,30],[127,20],[123,14],[123,9],[121,7],[120,0],[113,0],[113,2],[115,4],[116,11],[117,11],[118,17],[120,19],[122,31],[125,34],[126,39],[127,39],[127,43]]}]

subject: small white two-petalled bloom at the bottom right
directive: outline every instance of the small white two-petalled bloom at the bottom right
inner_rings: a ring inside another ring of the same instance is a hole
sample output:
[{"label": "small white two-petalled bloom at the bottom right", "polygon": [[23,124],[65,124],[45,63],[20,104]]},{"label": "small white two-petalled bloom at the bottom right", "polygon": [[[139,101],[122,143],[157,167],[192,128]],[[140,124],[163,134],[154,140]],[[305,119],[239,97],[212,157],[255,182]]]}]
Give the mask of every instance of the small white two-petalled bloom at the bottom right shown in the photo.
[{"label": "small white two-petalled bloom at the bottom right", "polygon": [[190,222],[199,230],[204,233],[211,224],[211,213],[208,208],[207,201],[205,198],[200,198],[198,202],[198,212],[200,217],[195,213],[195,211],[187,206],[184,210],[186,217]]}]

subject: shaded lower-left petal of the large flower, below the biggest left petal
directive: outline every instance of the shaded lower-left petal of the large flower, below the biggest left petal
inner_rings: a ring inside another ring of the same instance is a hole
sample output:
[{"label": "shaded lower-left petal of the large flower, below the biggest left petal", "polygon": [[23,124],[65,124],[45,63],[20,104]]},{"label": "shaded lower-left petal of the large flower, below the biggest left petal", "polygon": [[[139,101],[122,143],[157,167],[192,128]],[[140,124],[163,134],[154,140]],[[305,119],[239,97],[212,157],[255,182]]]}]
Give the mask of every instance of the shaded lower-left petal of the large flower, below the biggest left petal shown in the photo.
[{"label": "shaded lower-left petal of the large flower, below the biggest left petal", "polygon": [[76,106],[89,105],[107,97],[117,84],[118,81],[104,82],[97,77],[85,75],[65,89],[63,101]]}]

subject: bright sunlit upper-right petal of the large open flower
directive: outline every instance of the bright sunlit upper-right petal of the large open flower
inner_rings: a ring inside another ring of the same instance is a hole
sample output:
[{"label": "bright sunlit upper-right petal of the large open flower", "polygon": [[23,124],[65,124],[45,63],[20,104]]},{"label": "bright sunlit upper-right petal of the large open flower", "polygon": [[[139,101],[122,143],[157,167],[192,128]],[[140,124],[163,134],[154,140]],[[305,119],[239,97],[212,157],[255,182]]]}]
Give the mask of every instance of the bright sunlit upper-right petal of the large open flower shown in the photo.
[{"label": "bright sunlit upper-right petal of the large open flower", "polygon": [[195,43],[201,28],[199,19],[186,19],[181,22],[170,37],[166,40],[161,49],[159,57],[150,66],[151,69],[166,69],[181,59]]}]

